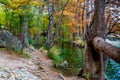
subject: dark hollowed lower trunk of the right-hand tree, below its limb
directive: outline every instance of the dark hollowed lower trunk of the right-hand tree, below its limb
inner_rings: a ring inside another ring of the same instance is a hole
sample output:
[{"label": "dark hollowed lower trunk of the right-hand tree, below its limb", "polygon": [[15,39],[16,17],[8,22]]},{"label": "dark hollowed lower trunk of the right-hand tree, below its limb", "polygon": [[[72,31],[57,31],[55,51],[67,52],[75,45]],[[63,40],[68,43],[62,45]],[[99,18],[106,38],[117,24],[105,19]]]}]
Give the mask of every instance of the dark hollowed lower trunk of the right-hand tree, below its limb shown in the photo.
[{"label": "dark hollowed lower trunk of the right-hand tree, below its limb", "polygon": [[92,80],[104,80],[103,53],[96,51],[92,44],[87,44],[84,56],[84,76]]}]

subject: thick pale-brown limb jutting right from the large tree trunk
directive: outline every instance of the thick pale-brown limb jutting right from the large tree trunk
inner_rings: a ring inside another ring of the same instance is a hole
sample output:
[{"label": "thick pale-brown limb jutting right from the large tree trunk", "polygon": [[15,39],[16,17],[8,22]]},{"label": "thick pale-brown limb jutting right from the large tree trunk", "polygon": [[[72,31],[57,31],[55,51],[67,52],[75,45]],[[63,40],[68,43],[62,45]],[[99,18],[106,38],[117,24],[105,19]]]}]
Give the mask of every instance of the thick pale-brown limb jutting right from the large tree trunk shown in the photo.
[{"label": "thick pale-brown limb jutting right from the large tree trunk", "polygon": [[95,37],[93,39],[93,45],[96,48],[96,50],[103,52],[108,57],[120,63],[120,48],[106,43],[101,37]]}]

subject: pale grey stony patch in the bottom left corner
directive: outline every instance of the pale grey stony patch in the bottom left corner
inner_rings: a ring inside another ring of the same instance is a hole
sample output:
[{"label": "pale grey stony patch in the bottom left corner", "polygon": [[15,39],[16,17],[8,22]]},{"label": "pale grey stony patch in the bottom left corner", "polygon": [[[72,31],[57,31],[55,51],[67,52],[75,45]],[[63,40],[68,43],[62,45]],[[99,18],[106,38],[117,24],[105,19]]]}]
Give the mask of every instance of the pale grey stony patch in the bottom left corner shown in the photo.
[{"label": "pale grey stony patch in the bottom left corner", "polygon": [[0,80],[41,80],[26,69],[0,69]]}]

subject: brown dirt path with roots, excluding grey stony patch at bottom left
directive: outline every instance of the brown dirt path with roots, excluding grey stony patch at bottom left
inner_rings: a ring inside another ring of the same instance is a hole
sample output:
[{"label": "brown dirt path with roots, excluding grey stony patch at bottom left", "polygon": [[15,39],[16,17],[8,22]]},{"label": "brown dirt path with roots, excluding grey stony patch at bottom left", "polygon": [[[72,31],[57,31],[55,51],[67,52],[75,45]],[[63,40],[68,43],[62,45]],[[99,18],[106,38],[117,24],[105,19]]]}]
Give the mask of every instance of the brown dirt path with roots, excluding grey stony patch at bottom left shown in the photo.
[{"label": "brown dirt path with roots, excluding grey stony patch at bottom left", "polygon": [[0,68],[24,68],[32,75],[38,77],[38,80],[84,80],[76,76],[65,77],[55,71],[52,60],[43,51],[34,50],[30,55],[31,59],[25,59],[11,51],[0,51]]}]

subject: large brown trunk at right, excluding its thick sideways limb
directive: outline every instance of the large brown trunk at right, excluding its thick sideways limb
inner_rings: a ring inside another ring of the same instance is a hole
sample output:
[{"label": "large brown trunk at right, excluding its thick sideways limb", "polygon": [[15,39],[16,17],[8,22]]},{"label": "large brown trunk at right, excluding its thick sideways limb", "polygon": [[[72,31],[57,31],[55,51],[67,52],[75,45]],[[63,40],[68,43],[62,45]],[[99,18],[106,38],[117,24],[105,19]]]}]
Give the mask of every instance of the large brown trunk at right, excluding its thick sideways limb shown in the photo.
[{"label": "large brown trunk at right, excluding its thick sideways limb", "polygon": [[96,50],[92,41],[95,36],[104,38],[105,23],[104,23],[105,0],[95,0],[93,25],[89,28],[87,34],[87,44],[85,49],[84,60],[84,75],[92,80],[104,80],[104,60],[103,53]]}]

